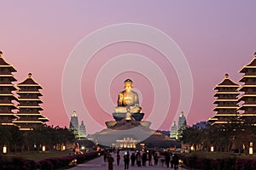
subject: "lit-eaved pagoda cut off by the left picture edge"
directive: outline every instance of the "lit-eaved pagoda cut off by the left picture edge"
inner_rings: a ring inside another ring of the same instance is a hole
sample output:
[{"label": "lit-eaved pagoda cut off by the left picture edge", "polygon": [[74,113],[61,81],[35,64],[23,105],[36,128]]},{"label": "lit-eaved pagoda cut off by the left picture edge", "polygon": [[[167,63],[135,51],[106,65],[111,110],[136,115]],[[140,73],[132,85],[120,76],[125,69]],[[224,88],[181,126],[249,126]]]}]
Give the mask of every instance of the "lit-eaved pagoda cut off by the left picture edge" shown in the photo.
[{"label": "lit-eaved pagoda cut off by the left picture edge", "polygon": [[[9,65],[3,59],[3,53],[0,51],[0,123],[1,125],[15,125],[12,121],[18,116],[15,116],[14,110],[17,98],[13,92],[17,90],[13,82],[16,78],[13,72],[17,72],[13,65]],[[14,103],[13,103],[14,102]]]}]

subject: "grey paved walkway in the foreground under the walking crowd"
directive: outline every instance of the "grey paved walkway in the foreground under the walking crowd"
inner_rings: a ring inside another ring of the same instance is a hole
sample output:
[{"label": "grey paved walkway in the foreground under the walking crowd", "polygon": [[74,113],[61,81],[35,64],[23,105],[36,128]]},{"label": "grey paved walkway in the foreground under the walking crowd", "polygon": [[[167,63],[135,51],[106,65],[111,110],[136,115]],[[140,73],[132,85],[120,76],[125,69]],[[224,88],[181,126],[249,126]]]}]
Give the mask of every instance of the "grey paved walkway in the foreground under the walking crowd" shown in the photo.
[{"label": "grey paved walkway in the foreground under the walking crowd", "polygon": [[[124,161],[122,159],[123,153],[120,152],[120,164],[119,166],[116,165],[116,159],[113,162],[113,169],[114,170],[123,170],[125,169],[124,166]],[[148,163],[148,162],[147,162]],[[160,163],[160,162],[159,162]],[[94,160],[91,161],[87,161],[84,164],[79,164],[76,167],[70,168],[69,170],[82,170],[82,169],[90,169],[90,170],[108,170],[108,162],[104,162],[103,161],[103,156],[98,157]],[[167,168],[165,165],[161,165],[161,163],[158,166],[147,166],[146,167],[137,167],[137,165],[135,165],[134,167],[131,167],[131,161],[130,161],[130,167],[129,170],[146,170],[146,169],[154,169],[154,170],[158,170],[158,169],[173,169],[171,167]],[[182,167],[178,167],[178,170],[186,170]]]}]

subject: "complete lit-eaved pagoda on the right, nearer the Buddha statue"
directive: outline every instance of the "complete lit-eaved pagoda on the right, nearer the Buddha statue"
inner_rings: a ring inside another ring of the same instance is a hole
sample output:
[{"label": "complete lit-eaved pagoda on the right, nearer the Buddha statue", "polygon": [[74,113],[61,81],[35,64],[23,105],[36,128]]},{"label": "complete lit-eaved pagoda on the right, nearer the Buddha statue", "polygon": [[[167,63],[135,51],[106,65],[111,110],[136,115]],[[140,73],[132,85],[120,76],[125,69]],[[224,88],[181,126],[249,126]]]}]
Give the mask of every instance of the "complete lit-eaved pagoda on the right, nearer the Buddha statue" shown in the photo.
[{"label": "complete lit-eaved pagoda on the right, nearer the Buddha statue", "polygon": [[218,83],[213,90],[217,90],[214,94],[216,114],[208,119],[208,122],[213,124],[226,124],[226,123],[241,123],[238,119],[237,113],[237,96],[240,94],[238,88],[239,84],[230,80],[228,74],[225,74],[224,80]]}]

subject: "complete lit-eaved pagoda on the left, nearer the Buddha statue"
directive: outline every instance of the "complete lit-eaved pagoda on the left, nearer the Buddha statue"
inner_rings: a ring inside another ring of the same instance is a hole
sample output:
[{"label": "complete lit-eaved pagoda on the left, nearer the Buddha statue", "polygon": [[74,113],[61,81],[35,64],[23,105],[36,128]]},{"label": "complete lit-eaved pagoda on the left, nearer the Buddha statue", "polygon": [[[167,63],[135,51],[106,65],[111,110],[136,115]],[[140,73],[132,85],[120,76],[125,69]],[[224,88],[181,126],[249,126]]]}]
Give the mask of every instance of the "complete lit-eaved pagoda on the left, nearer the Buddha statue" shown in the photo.
[{"label": "complete lit-eaved pagoda on the left, nearer the Buddha statue", "polygon": [[42,87],[32,79],[32,74],[29,73],[26,80],[17,84],[17,87],[19,88],[17,94],[20,96],[18,105],[20,111],[16,116],[20,118],[13,122],[20,126],[20,130],[33,130],[34,127],[48,122],[48,118],[40,113],[43,111],[40,106],[43,103],[40,99],[42,94],[39,92]]}]

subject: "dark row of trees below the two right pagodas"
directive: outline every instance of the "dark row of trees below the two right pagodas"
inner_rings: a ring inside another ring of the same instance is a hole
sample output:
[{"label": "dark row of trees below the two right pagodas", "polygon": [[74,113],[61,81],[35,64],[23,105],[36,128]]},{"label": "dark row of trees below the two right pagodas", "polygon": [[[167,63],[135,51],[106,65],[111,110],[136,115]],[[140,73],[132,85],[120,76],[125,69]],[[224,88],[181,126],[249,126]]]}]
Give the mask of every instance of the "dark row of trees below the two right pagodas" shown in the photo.
[{"label": "dark row of trees below the two right pagodas", "polygon": [[198,124],[186,127],[183,130],[181,141],[195,150],[210,150],[213,146],[216,151],[235,151],[237,153],[248,152],[249,143],[256,142],[256,127],[250,124],[214,124],[207,122],[205,127]]}]

